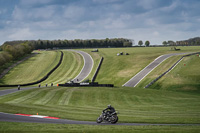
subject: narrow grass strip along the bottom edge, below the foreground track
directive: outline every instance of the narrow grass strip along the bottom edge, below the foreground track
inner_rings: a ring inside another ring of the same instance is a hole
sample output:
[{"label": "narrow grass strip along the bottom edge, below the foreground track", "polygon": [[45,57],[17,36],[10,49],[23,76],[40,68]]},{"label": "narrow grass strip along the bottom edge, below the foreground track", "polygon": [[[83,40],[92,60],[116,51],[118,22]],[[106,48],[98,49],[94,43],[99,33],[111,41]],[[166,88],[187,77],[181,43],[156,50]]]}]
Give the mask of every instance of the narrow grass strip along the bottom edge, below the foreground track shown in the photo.
[{"label": "narrow grass strip along the bottom edge, below the foreground track", "polygon": [[48,132],[48,133],[197,133],[200,126],[95,126],[41,123],[0,122],[0,132]]}]

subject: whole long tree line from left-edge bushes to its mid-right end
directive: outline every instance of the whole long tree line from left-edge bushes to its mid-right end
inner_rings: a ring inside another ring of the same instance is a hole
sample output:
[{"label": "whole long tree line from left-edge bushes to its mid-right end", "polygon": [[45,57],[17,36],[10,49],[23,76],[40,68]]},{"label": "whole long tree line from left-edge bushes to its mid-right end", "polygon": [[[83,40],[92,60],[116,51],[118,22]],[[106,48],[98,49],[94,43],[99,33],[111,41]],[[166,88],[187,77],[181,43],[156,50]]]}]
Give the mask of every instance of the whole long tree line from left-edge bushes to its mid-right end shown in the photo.
[{"label": "whole long tree line from left-edge bushes to its mid-right end", "polygon": [[34,49],[130,47],[132,41],[124,38],[90,40],[17,40],[6,41],[0,47],[0,66],[30,54]]}]

